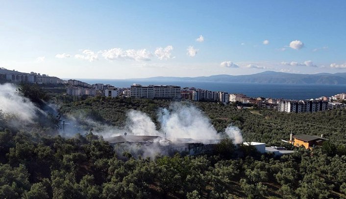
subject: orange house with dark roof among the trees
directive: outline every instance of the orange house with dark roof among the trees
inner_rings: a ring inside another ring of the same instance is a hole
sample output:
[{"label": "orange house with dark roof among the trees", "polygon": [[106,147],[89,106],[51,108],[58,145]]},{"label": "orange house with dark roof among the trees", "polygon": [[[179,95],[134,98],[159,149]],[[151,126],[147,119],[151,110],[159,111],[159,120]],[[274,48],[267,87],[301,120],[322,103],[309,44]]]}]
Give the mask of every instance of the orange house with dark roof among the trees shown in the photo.
[{"label": "orange house with dark roof among the trees", "polygon": [[327,139],[315,135],[295,135],[294,140],[291,140],[290,142],[295,147],[301,147],[304,146],[305,149],[313,149],[316,146],[321,146],[324,141]]}]

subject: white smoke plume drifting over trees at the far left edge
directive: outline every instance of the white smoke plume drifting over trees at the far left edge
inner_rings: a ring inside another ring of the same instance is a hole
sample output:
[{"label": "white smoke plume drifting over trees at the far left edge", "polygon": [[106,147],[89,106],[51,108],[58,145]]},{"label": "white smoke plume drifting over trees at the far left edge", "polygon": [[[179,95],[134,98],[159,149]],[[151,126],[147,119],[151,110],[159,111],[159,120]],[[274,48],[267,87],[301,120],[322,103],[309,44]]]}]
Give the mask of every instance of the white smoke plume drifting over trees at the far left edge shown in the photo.
[{"label": "white smoke plume drifting over trees at the far left edge", "polygon": [[[29,99],[21,96],[13,84],[0,85],[0,109],[5,116],[16,118],[22,123],[31,124],[37,118],[37,108]],[[19,125],[19,124],[18,124]]]}]

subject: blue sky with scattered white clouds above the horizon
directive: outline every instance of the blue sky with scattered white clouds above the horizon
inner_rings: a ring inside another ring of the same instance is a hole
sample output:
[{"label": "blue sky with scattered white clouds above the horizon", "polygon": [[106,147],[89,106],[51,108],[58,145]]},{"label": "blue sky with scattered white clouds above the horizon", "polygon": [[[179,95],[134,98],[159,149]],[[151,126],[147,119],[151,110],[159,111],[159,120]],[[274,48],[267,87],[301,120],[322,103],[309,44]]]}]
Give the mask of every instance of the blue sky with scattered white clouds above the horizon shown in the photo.
[{"label": "blue sky with scattered white clouds above the horizon", "polygon": [[346,72],[345,0],[0,0],[0,67],[60,78]]}]

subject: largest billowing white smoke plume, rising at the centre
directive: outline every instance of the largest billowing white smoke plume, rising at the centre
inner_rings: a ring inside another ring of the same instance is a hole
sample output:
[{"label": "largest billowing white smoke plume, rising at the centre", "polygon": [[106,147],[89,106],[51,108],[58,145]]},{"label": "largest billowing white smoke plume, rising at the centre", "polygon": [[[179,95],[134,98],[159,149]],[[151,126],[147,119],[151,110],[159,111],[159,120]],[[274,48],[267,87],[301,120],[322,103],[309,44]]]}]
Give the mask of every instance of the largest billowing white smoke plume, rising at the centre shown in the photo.
[{"label": "largest billowing white smoke plume, rising at the centre", "polygon": [[216,140],[219,134],[210,119],[191,104],[174,102],[169,109],[162,109],[158,114],[162,132],[167,139],[190,138],[194,140]]}]

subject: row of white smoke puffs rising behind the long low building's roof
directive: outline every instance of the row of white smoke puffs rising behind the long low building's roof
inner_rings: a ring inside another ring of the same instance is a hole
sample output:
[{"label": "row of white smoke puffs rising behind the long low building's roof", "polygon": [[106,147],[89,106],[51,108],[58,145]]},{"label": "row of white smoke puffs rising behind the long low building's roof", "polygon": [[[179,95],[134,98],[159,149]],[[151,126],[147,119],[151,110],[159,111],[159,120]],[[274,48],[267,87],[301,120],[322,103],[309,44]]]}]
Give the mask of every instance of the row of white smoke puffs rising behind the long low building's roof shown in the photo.
[{"label": "row of white smoke puffs rising behind the long low building's roof", "polygon": [[[122,127],[101,124],[80,115],[77,116],[78,119],[70,116],[70,123],[81,125],[82,123],[77,124],[77,121],[83,120],[82,125],[87,124],[93,133],[102,135],[104,138],[127,133],[128,135],[161,136],[174,142],[179,142],[179,139],[184,139],[184,142],[188,141],[186,139],[191,139],[191,142],[210,143],[211,140],[219,140],[222,137],[222,133],[216,131],[208,116],[190,103],[173,102],[169,108],[160,109],[157,114],[157,120],[161,125],[160,130],[156,130],[156,125],[151,118],[141,111],[130,110],[126,117],[125,125]],[[225,133],[233,143],[243,142],[238,127],[229,125]]]}]

